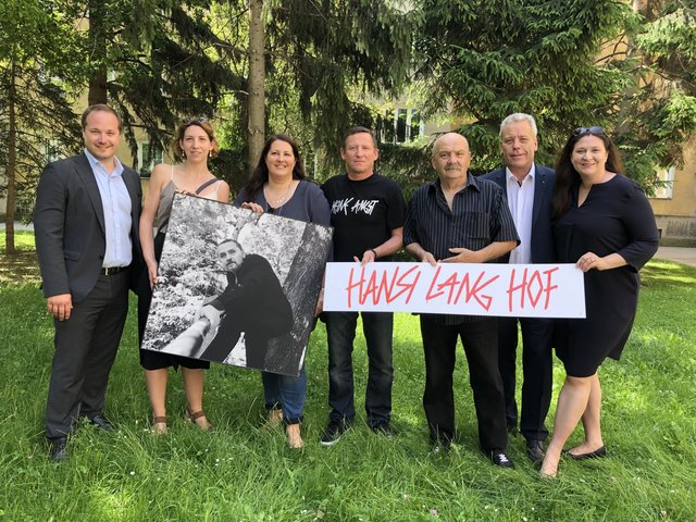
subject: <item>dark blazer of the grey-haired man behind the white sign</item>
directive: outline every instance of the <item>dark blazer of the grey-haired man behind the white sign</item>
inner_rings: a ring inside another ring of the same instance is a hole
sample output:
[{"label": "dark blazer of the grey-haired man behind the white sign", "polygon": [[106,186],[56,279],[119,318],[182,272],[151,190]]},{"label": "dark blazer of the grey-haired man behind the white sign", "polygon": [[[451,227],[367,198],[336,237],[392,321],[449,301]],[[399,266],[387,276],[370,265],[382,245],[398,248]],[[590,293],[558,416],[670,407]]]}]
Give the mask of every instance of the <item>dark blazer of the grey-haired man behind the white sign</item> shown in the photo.
[{"label": "dark blazer of the grey-haired man behind the white sign", "polygon": [[[505,167],[490,171],[481,176],[497,183],[502,188],[502,194],[508,198]],[[532,262],[554,263],[556,252],[554,250],[554,235],[551,233],[551,198],[556,186],[556,172],[548,166],[535,163],[534,176],[534,208],[532,210]],[[507,263],[510,254],[502,256],[499,261]]]}]

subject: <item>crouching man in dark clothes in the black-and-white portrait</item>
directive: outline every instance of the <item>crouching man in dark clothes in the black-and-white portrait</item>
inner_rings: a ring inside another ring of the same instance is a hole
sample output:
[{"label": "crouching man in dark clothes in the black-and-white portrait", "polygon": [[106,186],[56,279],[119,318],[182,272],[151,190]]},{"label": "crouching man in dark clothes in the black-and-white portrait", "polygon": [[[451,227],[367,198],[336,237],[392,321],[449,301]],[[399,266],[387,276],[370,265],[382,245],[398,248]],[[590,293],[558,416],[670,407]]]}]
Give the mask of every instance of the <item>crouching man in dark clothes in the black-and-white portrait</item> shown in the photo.
[{"label": "crouching man in dark clothes in the black-and-white portrait", "polygon": [[221,241],[217,254],[227,286],[196,314],[216,331],[201,358],[223,362],[244,333],[247,368],[263,370],[269,340],[293,328],[293,309],[264,257],[246,253],[234,239]]}]

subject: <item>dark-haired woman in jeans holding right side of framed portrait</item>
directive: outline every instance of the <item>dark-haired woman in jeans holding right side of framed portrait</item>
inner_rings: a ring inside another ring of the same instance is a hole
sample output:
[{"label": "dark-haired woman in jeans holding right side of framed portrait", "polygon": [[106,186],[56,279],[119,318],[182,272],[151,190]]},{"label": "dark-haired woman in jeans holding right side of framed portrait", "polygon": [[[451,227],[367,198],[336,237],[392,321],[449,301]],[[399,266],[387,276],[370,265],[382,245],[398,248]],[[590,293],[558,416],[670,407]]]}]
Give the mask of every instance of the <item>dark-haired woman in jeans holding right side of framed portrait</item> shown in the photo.
[{"label": "dark-haired woman in jeans holding right side of framed portrait", "polygon": [[[324,192],[304,177],[297,145],[288,136],[276,134],[265,142],[259,163],[235,204],[328,226],[331,213]],[[261,380],[269,424],[285,422],[288,446],[301,448],[304,443],[300,422],[307,395],[304,362],[299,377],[262,372]]]}]

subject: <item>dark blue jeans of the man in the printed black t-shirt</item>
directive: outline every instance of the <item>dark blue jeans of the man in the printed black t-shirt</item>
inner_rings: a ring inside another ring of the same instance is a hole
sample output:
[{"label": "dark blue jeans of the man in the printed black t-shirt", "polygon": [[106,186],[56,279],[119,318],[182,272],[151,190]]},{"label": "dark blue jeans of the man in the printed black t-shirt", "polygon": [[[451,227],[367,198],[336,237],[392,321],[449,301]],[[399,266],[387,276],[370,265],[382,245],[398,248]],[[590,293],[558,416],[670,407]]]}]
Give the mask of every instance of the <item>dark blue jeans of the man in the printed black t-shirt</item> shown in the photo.
[{"label": "dark blue jeans of the man in the printed black t-shirt", "polygon": [[[356,417],[352,381],[352,348],[358,312],[326,313],[328,339],[328,405],[331,419],[352,423]],[[368,345],[368,389],[365,411],[368,424],[375,426],[391,417],[391,332],[394,314],[362,312],[362,332]]]}]

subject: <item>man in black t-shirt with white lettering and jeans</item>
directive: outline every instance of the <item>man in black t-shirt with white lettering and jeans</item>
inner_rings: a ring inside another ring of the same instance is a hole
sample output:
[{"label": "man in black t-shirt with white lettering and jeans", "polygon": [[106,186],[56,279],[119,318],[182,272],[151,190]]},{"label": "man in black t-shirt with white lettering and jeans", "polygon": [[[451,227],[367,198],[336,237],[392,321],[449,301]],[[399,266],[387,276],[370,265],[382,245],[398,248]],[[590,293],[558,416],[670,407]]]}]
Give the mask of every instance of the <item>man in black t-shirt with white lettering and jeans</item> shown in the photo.
[{"label": "man in black t-shirt with white lettering and jeans", "polygon": [[[334,226],[334,261],[362,264],[387,261],[401,249],[405,202],[393,181],[374,172],[380,151],[372,132],[355,127],[348,132],[340,157],[347,174],[334,176],[323,186],[331,206]],[[356,417],[352,380],[352,341],[358,312],[327,312],[328,403],[331,421],[322,445],[332,446],[350,427]],[[391,332],[394,315],[361,312],[362,331],[370,361],[365,411],[368,424],[376,433],[393,435],[391,415]]]}]

